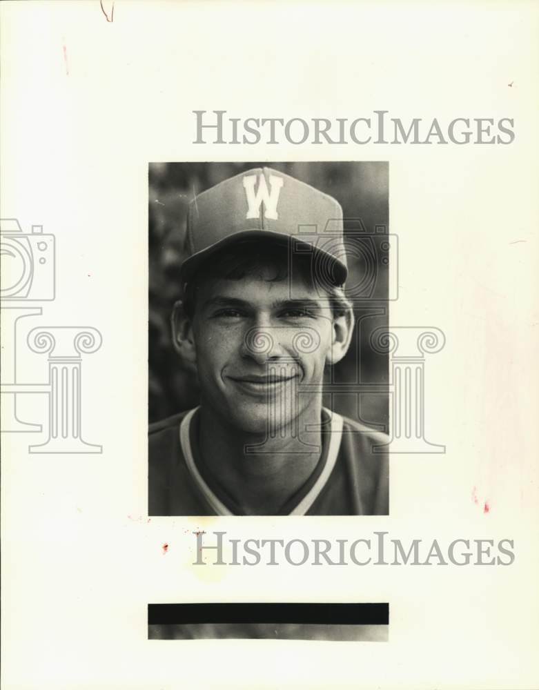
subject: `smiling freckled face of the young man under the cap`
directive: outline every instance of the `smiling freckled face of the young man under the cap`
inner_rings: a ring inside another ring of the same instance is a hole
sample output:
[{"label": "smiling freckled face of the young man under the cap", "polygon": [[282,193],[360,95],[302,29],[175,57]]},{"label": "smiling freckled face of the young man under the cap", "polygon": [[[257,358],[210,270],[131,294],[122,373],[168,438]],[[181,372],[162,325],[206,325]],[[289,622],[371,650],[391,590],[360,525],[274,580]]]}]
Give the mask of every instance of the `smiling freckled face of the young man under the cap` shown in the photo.
[{"label": "smiling freckled face of the young man under the cap", "polygon": [[[266,278],[207,282],[193,317],[202,402],[248,433],[275,431],[316,408],[333,342],[328,297],[299,277],[293,286]],[[302,384],[317,386],[298,395]]]}]

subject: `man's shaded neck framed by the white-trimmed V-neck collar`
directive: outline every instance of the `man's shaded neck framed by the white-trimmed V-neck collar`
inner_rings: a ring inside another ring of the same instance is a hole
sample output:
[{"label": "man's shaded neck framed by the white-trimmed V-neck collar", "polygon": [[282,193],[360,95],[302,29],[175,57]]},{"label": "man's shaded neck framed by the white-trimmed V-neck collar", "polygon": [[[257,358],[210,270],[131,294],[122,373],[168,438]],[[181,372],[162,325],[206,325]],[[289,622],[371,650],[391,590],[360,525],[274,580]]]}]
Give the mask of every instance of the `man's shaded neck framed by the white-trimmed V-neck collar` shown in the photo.
[{"label": "man's shaded neck framed by the white-trimmed V-neck collar", "polygon": [[[305,484],[322,453],[321,401],[295,420],[300,433],[280,428],[275,437],[242,433],[202,405],[199,452],[215,482],[246,515],[275,515]],[[315,431],[304,431],[306,428]],[[251,452],[247,452],[251,446]],[[253,452],[253,446],[254,452]]]}]

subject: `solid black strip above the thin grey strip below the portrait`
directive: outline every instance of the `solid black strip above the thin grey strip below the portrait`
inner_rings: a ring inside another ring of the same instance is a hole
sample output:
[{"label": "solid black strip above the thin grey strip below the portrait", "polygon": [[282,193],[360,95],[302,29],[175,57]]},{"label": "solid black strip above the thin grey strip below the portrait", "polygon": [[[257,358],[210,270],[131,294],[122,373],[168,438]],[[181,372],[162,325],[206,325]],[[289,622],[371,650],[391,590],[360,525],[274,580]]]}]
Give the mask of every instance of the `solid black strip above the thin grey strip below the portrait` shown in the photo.
[{"label": "solid black strip above the thin grey strip below the portrait", "polygon": [[389,604],[148,604],[148,625],[184,623],[387,625]]}]

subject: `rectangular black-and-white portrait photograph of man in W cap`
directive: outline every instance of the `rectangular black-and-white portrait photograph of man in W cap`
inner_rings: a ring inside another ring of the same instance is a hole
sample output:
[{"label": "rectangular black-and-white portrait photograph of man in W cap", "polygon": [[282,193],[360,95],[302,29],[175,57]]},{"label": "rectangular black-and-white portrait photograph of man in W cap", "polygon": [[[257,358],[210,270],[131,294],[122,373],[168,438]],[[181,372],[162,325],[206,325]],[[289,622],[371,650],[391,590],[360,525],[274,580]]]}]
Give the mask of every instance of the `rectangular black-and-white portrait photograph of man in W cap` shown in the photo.
[{"label": "rectangular black-and-white portrait photograph of man in W cap", "polygon": [[150,164],[149,515],[389,513],[388,181]]}]

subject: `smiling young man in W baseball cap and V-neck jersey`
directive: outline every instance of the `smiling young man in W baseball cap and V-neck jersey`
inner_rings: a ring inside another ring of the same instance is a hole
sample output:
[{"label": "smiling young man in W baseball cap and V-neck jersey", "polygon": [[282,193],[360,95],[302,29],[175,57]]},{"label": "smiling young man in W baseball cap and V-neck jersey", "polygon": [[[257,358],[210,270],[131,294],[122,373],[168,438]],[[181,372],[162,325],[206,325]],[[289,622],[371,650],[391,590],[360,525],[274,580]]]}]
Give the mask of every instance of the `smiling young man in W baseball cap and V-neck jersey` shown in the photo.
[{"label": "smiling young man in W baseball cap and V-neck jersey", "polygon": [[187,245],[173,339],[200,406],[150,426],[149,514],[386,515],[387,437],[322,406],[354,322],[340,205],[248,170],[193,199]]}]

